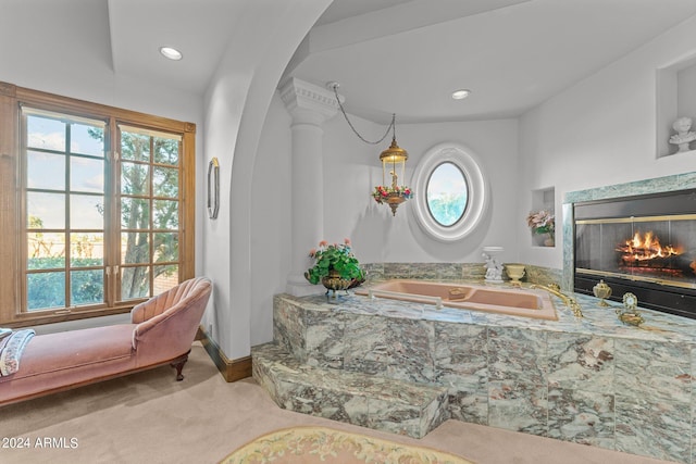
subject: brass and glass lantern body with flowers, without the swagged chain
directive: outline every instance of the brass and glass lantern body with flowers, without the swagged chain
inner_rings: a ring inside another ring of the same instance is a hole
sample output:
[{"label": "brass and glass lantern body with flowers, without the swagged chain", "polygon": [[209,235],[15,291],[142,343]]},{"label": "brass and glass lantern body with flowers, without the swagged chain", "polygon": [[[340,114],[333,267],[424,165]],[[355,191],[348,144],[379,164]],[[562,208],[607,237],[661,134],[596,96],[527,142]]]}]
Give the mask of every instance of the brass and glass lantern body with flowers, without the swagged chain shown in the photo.
[{"label": "brass and glass lantern body with flowers, without the swagged chain", "polygon": [[[394,121],[391,124],[394,124]],[[391,208],[393,216],[396,215],[396,209],[399,208],[399,204],[403,203],[413,195],[409,187],[399,185],[399,180],[403,181],[406,161],[408,159],[409,153],[397,145],[396,135],[391,138],[389,148],[380,154],[380,161],[382,162],[382,185],[374,188],[372,196],[377,203],[388,204],[389,208]]]}]

